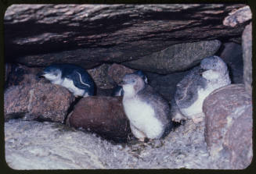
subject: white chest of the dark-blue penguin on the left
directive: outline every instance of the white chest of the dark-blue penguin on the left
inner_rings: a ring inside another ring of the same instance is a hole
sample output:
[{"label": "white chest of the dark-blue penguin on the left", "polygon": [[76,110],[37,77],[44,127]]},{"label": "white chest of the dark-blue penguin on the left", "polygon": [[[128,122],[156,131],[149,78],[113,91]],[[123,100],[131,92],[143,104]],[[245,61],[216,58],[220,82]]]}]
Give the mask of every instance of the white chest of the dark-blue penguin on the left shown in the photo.
[{"label": "white chest of the dark-blue penguin on the left", "polygon": [[63,80],[57,80],[52,83],[59,84],[63,87],[66,87],[71,93],[78,96],[83,96],[85,90],[79,89],[78,87],[74,86],[73,80],[64,78]]}]

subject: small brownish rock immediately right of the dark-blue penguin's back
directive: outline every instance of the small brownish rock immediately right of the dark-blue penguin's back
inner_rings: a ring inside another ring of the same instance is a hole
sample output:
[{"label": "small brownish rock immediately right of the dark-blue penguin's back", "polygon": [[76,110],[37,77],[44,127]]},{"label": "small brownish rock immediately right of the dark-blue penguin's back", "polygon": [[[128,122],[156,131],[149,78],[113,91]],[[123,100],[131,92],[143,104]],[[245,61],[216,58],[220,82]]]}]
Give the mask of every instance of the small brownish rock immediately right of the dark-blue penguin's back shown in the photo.
[{"label": "small brownish rock immediately right of the dark-blue penguin's back", "polygon": [[110,89],[114,87],[113,80],[107,76],[110,65],[103,64],[94,69],[88,69],[87,72],[92,76],[97,88]]}]

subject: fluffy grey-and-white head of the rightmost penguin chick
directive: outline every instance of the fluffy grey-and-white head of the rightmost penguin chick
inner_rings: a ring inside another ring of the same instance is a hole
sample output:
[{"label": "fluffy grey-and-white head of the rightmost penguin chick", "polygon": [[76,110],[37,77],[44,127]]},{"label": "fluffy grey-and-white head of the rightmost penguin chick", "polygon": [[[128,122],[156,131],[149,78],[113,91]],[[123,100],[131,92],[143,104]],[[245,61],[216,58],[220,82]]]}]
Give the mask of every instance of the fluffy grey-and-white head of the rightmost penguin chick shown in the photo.
[{"label": "fluffy grey-and-white head of the rightmost penguin chick", "polygon": [[207,80],[217,80],[220,76],[228,73],[225,62],[216,55],[203,59],[200,62],[200,67],[204,70],[202,76]]}]

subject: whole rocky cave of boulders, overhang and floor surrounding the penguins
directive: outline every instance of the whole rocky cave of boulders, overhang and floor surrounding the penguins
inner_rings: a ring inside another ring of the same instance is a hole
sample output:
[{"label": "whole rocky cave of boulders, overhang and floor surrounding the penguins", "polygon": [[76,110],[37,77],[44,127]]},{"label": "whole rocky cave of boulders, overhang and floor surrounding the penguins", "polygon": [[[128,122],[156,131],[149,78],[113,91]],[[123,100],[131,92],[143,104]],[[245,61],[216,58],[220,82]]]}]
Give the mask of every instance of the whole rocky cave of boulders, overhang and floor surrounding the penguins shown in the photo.
[{"label": "whole rocky cave of boulders, overhang and floor surrounding the penguins", "polygon": [[[251,9],[245,4],[11,5],[4,17],[5,161],[12,169],[245,169],[252,159]],[[232,84],[204,101],[207,121],[159,141],[132,136],[113,88],[142,70],[167,101],[207,56]],[[38,78],[83,67],[96,96]]]}]

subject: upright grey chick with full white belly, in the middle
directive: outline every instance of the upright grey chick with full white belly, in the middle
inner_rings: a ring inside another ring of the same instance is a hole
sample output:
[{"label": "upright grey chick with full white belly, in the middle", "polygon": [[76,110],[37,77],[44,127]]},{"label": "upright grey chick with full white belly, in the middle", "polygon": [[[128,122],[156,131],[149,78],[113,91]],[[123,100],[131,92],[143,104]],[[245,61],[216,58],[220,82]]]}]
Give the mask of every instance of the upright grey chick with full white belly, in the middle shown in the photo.
[{"label": "upright grey chick with full white belly, in the middle", "polygon": [[160,139],[171,128],[168,101],[153,91],[142,77],[134,73],[124,76],[123,106],[133,135],[139,140]]}]

